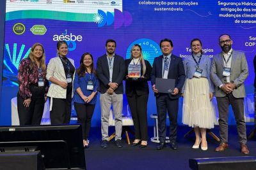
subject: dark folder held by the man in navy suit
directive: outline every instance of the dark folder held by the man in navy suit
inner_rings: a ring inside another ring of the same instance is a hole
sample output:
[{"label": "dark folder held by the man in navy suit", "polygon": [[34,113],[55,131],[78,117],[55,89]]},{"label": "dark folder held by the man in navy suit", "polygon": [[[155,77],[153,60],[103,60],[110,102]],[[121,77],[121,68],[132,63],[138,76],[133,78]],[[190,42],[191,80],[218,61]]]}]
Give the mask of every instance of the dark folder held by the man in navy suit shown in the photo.
[{"label": "dark folder held by the man in navy suit", "polygon": [[156,89],[159,93],[173,94],[175,79],[156,78]]}]

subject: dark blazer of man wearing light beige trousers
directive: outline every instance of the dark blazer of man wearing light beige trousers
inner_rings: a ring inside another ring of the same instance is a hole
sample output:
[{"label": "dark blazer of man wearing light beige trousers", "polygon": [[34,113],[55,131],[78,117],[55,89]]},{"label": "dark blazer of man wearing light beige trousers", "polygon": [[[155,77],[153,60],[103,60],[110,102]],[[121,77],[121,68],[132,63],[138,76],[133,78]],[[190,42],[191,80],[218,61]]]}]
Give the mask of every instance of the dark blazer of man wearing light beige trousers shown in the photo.
[{"label": "dark blazer of man wearing light beige trousers", "polygon": [[[97,76],[100,81],[98,91],[101,94],[106,93],[109,89],[108,83],[109,81],[109,66],[108,66],[108,59],[107,55],[104,54],[97,60],[97,67],[96,67]],[[123,94],[124,93],[124,86],[123,80],[125,76],[125,65],[123,57],[115,54],[115,59],[113,62],[113,75],[112,75],[112,82],[118,83],[118,88],[115,89],[116,94]]]}]

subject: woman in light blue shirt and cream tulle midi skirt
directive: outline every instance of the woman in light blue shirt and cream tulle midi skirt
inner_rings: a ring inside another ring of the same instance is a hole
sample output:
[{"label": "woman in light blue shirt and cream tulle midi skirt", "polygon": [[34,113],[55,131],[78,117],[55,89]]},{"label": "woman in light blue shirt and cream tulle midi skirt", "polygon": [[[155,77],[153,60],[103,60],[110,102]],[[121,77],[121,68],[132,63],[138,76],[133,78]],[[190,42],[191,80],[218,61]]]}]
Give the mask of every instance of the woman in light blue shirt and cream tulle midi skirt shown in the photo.
[{"label": "woman in light blue shirt and cream tulle midi skirt", "polygon": [[207,150],[206,129],[214,128],[215,111],[211,103],[213,87],[210,80],[211,59],[204,55],[202,42],[195,38],[191,41],[192,55],[184,59],[186,81],[182,89],[183,124],[194,128],[196,141],[192,148]]}]

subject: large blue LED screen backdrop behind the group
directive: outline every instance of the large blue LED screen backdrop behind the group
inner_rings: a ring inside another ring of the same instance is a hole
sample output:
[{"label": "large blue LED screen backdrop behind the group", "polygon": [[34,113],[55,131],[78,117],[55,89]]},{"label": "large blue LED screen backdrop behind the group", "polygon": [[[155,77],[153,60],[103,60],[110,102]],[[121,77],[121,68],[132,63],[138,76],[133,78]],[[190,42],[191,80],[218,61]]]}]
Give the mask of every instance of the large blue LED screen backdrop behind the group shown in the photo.
[{"label": "large blue LED screen backdrop behind the group", "polygon": [[[33,43],[45,47],[47,62],[56,56],[56,42],[68,42],[68,56],[79,66],[84,52],[95,61],[106,52],[106,39],[115,39],[116,53],[130,57],[131,46],[139,43],[152,64],[161,55],[159,41],[170,38],[173,54],[186,57],[190,41],[200,38],[209,57],[220,52],[218,36],[228,33],[233,48],[246,54],[254,80],[253,57],[256,43],[255,1],[90,1],[8,0],[3,60],[3,89],[17,92],[17,69],[28,57]],[[15,93],[16,93],[15,92]],[[13,96],[12,96],[13,97]]]}]

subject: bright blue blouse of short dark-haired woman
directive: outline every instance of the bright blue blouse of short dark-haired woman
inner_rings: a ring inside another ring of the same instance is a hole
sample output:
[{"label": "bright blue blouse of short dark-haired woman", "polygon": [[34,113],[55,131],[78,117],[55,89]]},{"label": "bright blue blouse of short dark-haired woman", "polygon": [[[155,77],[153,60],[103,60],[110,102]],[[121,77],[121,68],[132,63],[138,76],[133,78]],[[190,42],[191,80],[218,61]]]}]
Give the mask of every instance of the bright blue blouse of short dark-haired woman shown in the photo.
[{"label": "bright blue blouse of short dark-haired woman", "polygon": [[[92,81],[93,83],[93,90],[87,90],[87,85],[88,81]],[[83,77],[79,77],[78,74],[75,74],[75,79],[74,79],[74,97],[73,101],[76,103],[83,103],[85,104],[84,100],[79,96],[77,93],[76,89],[79,88],[82,90],[84,96],[90,96],[92,92],[96,92],[98,87],[99,87],[99,80],[95,76],[95,74],[89,74],[86,73],[84,74]],[[88,104],[96,104],[97,96],[95,95]]]}]

